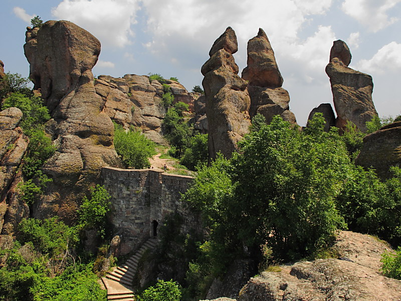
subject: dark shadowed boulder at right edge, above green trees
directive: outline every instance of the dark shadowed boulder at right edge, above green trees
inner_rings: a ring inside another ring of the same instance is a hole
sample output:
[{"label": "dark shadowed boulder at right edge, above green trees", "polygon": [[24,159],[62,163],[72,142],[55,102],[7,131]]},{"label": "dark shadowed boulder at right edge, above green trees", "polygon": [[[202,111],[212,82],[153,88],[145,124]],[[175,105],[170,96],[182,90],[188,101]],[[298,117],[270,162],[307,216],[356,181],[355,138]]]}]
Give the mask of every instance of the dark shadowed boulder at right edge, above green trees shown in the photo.
[{"label": "dark shadowed boulder at right edge, above green trees", "polygon": [[365,168],[373,167],[381,178],[392,177],[389,167],[401,167],[401,121],[366,135],[355,163]]}]

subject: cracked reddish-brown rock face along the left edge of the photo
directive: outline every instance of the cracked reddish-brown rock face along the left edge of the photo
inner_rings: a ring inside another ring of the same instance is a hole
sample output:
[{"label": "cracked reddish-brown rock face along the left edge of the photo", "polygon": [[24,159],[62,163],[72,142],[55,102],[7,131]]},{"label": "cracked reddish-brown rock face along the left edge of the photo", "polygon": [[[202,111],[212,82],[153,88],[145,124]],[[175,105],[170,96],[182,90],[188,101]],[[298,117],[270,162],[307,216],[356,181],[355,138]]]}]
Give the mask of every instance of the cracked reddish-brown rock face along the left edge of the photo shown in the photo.
[{"label": "cracked reddish-brown rock face along the left edge of the photo", "polygon": [[19,222],[29,217],[29,208],[16,192],[21,181],[19,167],[28,147],[28,138],[19,127],[23,114],[18,108],[0,112],[0,232],[13,234]]}]

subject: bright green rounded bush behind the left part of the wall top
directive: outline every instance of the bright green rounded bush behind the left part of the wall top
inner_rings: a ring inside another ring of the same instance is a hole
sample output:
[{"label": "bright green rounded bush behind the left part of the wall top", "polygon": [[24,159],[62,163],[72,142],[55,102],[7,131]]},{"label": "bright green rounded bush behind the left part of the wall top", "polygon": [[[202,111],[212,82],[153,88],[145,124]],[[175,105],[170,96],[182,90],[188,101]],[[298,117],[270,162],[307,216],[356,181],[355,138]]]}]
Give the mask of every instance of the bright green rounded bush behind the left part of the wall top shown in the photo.
[{"label": "bright green rounded bush behind the left part of the wall top", "polygon": [[134,127],[125,131],[121,125],[114,123],[114,129],[114,148],[125,167],[150,167],[148,158],[155,155],[155,143]]}]

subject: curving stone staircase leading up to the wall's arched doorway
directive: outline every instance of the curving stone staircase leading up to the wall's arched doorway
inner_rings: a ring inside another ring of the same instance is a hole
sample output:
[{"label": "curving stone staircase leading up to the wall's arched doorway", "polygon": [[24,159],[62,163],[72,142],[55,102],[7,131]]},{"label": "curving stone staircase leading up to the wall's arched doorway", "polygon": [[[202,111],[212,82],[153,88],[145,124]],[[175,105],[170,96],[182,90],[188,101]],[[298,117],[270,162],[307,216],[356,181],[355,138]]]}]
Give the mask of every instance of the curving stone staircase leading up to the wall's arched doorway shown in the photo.
[{"label": "curving stone staircase leading up to the wall's arched doorway", "polygon": [[108,272],[102,281],[107,289],[107,300],[133,301],[134,294],[131,290],[139,259],[147,249],[154,249],[157,244],[156,238],[149,238],[141,248],[130,257],[124,264],[117,266]]}]

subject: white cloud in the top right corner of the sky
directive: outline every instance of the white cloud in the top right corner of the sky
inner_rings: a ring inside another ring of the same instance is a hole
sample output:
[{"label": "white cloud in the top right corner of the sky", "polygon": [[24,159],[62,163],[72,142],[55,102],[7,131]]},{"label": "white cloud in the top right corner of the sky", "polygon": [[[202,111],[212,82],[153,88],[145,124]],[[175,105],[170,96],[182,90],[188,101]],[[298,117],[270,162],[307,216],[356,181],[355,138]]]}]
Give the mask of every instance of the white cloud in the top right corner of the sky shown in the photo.
[{"label": "white cloud in the top right corner of the sky", "polygon": [[343,12],[357,20],[370,32],[378,32],[398,21],[389,17],[387,11],[401,0],[345,0],[341,6]]}]

